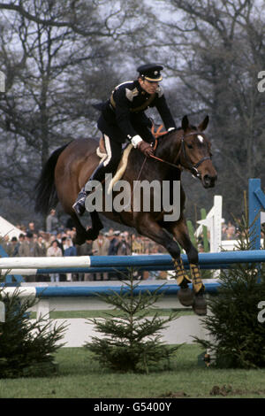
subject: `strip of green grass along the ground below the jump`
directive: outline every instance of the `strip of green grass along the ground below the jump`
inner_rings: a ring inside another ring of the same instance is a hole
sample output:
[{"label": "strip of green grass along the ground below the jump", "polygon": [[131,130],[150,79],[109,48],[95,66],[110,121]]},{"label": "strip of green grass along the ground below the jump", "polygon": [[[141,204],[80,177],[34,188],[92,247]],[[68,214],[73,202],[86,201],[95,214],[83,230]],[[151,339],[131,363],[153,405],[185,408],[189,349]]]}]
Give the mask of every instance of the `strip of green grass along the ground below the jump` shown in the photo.
[{"label": "strip of green grass along the ground below the jump", "polygon": [[218,370],[198,366],[201,348],[183,345],[170,371],[115,374],[83,348],[57,352],[58,374],[0,379],[0,398],[265,397],[265,369]]}]

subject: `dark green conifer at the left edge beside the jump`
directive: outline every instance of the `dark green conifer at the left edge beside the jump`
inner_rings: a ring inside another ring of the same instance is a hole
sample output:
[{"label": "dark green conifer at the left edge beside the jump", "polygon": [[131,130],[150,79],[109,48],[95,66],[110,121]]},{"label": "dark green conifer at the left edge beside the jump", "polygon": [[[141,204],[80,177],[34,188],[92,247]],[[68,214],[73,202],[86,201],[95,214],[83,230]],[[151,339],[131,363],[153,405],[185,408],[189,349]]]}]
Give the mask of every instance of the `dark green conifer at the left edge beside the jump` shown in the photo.
[{"label": "dark green conifer at the left edge beside the jump", "polygon": [[[53,326],[46,315],[30,320],[28,310],[37,300],[19,297],[19,288],[12,295],[0,288],[4,303],[4,322],[0,322],[0,378],[45,376],[54,374],[54,354],[64,345],[66,326]],[[2,304],[3,305],[3,304]]]}]

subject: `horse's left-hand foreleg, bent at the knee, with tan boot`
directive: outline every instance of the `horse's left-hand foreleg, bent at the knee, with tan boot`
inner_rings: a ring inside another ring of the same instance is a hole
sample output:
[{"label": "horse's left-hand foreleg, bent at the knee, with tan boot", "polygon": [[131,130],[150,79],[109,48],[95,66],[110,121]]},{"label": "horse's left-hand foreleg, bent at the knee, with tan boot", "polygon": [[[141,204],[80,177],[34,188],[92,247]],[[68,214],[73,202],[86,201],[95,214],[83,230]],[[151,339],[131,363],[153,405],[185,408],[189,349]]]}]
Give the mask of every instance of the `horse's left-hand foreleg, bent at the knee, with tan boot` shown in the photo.
[{"label": "horse's left-hand foreleg, bent at the knee, with tan boot", "polygon": [[173,258],[176,280],[178,286],[180,286],[180,289],[178,290],[178,299],[184,306],[192,305],[193,293],[188,287],[188,283],[190,283],[191,280],[183,266],[178,244],[173,240],[171,235],[169,235],[163,227],[160,227],[155,220],[148,216],[148,214],[140,217],[140,220],[137,221],[136,229],[141,235],[147,236],[151,240],[155,241],[155,243],[162,245],[166,250],[168,250],[170,256]]}]

